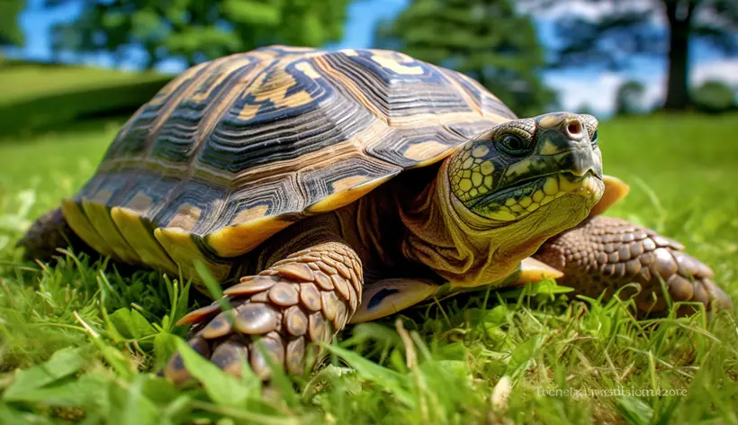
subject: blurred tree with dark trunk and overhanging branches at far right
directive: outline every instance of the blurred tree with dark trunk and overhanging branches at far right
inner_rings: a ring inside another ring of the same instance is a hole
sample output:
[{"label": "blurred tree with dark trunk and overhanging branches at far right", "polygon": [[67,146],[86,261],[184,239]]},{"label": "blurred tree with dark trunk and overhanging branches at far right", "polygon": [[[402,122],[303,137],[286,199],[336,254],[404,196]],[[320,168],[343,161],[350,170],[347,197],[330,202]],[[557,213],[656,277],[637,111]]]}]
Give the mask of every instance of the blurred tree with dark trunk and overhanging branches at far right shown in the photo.
[{"label": "blurred tree with dark trunk and overhanging branches at far right", "polygon": [[[725,54],[738,51],[736,0],[518,0],[536,14],[561,6],[557,34],[561,39],[552,63],[624,68],[647,56],[668,60],[664,109],[684,110],[689,99],[691,41],[710,42]],[[603,11],[597,16],[573,12],[573,3]],[[660,24],[664,23],[664,25]],[[665,31],[664,31],[665,30]]]}]

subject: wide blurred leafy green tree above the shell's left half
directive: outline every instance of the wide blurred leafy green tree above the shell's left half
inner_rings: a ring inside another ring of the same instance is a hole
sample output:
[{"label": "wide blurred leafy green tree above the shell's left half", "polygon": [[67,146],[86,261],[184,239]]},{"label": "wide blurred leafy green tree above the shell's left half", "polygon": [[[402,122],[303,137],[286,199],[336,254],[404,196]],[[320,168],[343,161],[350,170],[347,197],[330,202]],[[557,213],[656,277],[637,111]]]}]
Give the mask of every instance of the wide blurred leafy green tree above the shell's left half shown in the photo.
[{"label": "wide blurred leafy green tree above the shell's left half", "polygon": [[46,0],[82,3],[83,13],[53,29],[56,50],[148,54],[145,68],[171,57],[193,64],[266,44],[339,41],[350,0]]}]

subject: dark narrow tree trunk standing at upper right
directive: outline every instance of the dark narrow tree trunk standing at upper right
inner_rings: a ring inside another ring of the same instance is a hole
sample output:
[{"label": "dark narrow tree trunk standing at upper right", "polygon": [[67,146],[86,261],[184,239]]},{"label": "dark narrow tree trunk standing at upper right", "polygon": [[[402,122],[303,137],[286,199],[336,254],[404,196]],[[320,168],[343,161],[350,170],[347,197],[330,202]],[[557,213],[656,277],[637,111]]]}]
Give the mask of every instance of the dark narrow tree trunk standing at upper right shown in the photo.
[{"label": "dark narrow tree trunk standing at upper right", "polygon": [[669,20],[669,75],[663,108],[683,111],[689,107],[689,27],[698,0],[663,0]]}]

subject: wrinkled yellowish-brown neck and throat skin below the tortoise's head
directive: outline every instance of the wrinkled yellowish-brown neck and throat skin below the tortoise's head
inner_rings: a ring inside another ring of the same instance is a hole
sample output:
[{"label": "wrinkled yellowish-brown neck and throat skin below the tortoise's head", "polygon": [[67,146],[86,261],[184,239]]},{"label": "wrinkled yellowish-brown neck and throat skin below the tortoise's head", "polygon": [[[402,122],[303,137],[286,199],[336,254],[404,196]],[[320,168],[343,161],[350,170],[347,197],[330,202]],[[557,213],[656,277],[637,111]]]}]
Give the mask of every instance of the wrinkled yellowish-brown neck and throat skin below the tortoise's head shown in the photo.
[{"label": "wrinkled yellowish-brown neck and throat skin below the tortoise's head", "polygon": [[574,227],[590,211],[583,197],[565,195],[515,222],[483,218],[451,193],[446,162],[420,194],[398,203],[409,230],[403,254],[452,286],[499,284],[545,240]]}]

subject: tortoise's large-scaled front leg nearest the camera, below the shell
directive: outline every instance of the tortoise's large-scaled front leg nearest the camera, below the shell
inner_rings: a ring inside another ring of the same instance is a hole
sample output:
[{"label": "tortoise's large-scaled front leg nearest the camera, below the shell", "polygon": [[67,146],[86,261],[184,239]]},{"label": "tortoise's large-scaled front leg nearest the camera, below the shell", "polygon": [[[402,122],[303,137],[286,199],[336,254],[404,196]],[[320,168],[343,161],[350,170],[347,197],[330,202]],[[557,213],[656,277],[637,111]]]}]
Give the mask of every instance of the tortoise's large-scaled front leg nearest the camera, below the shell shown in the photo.
[{"label": "tortoise's large-scaled front leg nearest the camera, below the shell", "polygon": [[[213,303],[190,312],[178,324],[193,323],[191,347],[231,375],[239,375],[241,359],[268,379],[261,341],[276,365],[302,375],[311,342],[328,342],[344,328],[361,300],[362,267],[356,252],[342,242],[302,249],[257,276],[241,278],[224,291],[232,310]],[[189,378],[175,355],[164,374],[179,383]]]}]

